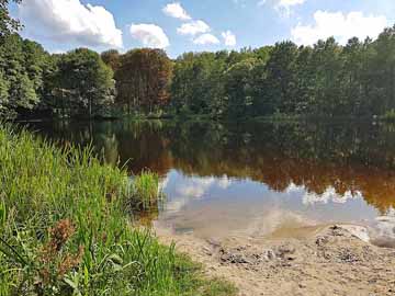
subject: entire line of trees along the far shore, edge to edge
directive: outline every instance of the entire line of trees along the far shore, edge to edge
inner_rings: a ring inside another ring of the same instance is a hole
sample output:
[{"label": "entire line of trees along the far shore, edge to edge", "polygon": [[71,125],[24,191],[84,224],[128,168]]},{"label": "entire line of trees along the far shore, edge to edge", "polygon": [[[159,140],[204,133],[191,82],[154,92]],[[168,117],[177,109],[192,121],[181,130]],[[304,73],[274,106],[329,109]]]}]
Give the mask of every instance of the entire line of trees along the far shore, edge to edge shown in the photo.
[{"label": "entire line of trees along the far shore, edge to edge", "polygon": [[124,114],[395,117],[395,26],[376,41],[278,43],[240,52],[79,48],[50,55],[0,36],[0,112],[60,117]]}]

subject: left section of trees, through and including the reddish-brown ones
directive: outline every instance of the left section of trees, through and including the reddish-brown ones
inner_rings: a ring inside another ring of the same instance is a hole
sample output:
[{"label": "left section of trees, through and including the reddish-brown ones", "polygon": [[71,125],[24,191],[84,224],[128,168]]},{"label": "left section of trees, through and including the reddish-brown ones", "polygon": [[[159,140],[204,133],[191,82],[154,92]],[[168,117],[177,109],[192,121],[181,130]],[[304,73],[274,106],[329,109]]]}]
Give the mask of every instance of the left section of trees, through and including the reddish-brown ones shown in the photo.
[{"label": "left section of trees, through and including the reddish-brown ones", "polygon": [[2,36],[0,43],[3,116],[117,116],[169,105],[172,61],[163,50],[100,56],[78,48],[50,55],[18,34]]}]

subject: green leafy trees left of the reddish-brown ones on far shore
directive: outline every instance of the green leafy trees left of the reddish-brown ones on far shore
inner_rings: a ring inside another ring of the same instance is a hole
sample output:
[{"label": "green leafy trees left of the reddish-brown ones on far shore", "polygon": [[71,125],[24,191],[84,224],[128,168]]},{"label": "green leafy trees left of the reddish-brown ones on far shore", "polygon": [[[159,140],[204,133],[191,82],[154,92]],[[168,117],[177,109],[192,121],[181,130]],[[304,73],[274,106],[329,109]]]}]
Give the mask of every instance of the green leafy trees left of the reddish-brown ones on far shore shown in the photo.
[{"label": "green leafy trees left of the reddish-brown ones on far shore", "polygon": [[49,55],[18,34],[0,38],[0,112],[91,116],[114,102],[113,71],[89,49]]}]

